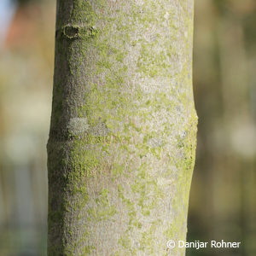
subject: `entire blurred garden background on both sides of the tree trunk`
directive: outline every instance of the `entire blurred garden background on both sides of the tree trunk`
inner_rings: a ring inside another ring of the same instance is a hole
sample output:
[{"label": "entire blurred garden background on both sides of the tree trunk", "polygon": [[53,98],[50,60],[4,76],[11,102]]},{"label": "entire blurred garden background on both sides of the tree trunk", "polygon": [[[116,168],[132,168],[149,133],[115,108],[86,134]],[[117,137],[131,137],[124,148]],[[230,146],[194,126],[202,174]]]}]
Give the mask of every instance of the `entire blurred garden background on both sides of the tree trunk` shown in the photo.
[{"label": "entire blurred garden background on both sides of the tree trunk", "polygon": [[[0,256],[46,255],[54,0],[0,1]],[[187,255],[256,255],[256,1],[195,0],[198,146]]]}]

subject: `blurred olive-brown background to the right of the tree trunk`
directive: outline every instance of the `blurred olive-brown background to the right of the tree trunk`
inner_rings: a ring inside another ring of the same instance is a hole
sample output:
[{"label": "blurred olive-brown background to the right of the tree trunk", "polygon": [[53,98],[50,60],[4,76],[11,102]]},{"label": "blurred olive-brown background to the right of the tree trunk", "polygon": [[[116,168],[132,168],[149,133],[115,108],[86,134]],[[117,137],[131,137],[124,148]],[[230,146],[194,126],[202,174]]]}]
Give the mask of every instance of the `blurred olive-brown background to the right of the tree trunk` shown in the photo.
[{"label": "blurred olive-brown background to the right of the tree trunk", "polygon": [[255,19],[253,0],[195,1],[199,131],[188,240],[241,241],[241,247],[189,249],[189,256],[256,252]]}]

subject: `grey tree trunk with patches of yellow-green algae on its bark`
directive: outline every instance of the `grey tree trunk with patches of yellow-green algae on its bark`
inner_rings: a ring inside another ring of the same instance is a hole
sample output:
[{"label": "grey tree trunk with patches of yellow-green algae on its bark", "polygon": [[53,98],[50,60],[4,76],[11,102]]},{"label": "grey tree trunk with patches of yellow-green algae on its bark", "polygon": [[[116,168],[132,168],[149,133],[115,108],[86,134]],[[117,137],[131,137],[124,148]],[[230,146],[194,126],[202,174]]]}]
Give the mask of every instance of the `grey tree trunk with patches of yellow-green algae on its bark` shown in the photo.
[{"label": "grey tree trunk with patches of yellow-green algae on its bark", "polygon": [[49,255],[184,255],[193,0],[58,0]]}]

